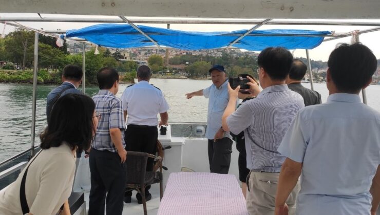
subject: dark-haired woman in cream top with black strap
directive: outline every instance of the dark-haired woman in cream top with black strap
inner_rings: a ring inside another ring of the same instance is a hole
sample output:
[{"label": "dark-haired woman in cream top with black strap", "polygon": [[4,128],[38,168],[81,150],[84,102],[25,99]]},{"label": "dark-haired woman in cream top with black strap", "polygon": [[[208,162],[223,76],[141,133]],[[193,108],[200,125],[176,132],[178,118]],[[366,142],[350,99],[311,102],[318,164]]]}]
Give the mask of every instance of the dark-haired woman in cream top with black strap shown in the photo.
[{"label": "dark-haired woman in cream top with black strap", "polygon": [[49,126],[41,134],[41,148],[15,182],[0,192],[0,214],[70,214],[76,150],[87,150],[100,115],[93,100],[68,94],[56,101]]}]

